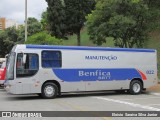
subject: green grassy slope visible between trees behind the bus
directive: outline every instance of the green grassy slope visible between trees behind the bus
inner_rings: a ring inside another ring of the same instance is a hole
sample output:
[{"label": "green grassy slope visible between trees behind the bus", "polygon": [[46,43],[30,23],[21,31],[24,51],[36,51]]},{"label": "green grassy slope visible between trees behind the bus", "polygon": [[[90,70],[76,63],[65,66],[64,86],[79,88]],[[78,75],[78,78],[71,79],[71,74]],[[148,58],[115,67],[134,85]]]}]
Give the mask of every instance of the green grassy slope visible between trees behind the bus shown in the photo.
[{"label": "green grassy slope visible between trees behind the bus", "polygon": [[[151,48],[151,49],[156,49],[157,50],[157,57],[158,57],[158,77],[160,78],[160,30],[156,30],[152,33],[150,33],[151,38],[145,42],[144,48]],[[77,36],[69,36],[68,40],[64,40],[63,44],[67,46],[76,46],[77,45]],[[107,42],[104,43],[102,46],[103,47],[115,47],[114,46],[114,41],[112,38],[107,38]],[[92,43],[91,40],[89,40],[89,35],[87,33],[87,29],[84,28],[81,31],[81,45],[82,46],[96,46],[95,44]]]}]

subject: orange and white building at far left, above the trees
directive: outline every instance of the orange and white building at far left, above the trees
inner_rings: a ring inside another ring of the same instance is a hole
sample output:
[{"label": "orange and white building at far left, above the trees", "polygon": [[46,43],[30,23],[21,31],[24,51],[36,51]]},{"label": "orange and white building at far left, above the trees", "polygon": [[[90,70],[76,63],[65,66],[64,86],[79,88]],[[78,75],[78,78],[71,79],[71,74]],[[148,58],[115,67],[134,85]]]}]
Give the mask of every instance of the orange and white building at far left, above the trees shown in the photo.
[{"label": "orange and white building at far left, above the trees", "polygon": [[13,19],[0,18],[0,30],[15,26],[18,28],[18,23]]}]

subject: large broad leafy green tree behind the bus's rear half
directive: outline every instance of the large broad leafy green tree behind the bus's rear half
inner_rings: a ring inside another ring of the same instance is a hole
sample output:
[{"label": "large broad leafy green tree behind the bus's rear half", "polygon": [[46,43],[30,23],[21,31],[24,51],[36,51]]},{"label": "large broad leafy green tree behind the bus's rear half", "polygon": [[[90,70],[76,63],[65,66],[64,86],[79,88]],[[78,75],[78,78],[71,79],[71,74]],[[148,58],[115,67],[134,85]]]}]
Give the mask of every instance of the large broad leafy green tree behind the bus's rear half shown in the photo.
[{"label": "large broad leafy green tree behind the bus's rear half", "polygon": [[143,47],[149,17],[149,8],[143,0],[99,0],[88,15],[90,39],[102,45],[107,37],[113,37],[115,46]]}]

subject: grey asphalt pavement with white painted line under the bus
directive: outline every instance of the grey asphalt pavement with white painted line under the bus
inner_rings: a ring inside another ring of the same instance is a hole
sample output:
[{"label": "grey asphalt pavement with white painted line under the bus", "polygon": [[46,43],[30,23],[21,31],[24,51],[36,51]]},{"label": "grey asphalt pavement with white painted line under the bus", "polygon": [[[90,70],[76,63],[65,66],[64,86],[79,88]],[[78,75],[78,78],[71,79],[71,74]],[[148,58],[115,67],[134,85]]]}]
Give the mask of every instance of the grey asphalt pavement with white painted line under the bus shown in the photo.
[{"label": "grey asphalt pavement with white painted line under the bus", "polygon": [[[160,111],[160,93],[140,95],[103,93],[63,94],[56,99],[41,99],[37,95],[11,95],[0,89],[0,111]],[[3,118],[5,120],[7,118]],[[13,118],[21,120],[22,118]],[[23,118],[28,119],[28,118]],[[35,118],[33,118],[35,120]],[[53,118],[37,118],[37,120]],[[137,117],[59,117],[54,120],[137,120]],[[140,117],[159,120],[160,117]]]}]

